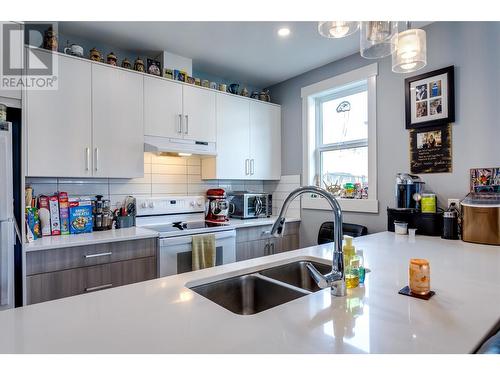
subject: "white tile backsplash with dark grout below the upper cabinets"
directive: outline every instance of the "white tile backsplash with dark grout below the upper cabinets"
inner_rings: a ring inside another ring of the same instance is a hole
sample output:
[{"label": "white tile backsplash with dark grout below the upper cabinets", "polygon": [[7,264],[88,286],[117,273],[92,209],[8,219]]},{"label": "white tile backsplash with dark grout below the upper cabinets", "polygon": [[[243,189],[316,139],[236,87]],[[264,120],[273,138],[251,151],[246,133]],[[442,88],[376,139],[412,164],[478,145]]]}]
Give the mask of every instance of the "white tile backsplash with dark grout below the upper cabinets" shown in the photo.
[{"label": "white tile backsplash with dark grout below the upper cabinets", "polygon": [[101,194],[119,205],[127,195],[151,197],[161,195],[204,195],[214,187],[225,190],[266,191],[263,181],[202,180],[199,157],[162,156],[144,153],[144,176],[141,178],[45,178],[27,177],[26,184],[34,194],[66,191],[69,195]]}]

